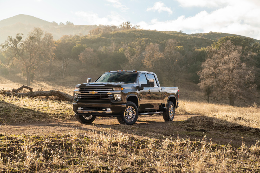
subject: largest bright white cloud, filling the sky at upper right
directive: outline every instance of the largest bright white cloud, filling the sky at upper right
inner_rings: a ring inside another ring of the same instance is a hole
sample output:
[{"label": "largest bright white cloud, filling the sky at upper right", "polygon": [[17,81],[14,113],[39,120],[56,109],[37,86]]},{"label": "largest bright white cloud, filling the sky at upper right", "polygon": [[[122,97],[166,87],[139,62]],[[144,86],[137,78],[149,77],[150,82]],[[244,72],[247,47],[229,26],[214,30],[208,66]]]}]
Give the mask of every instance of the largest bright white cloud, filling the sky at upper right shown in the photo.
[{"label": "largest bright white cloud, filling the sky at upper right", "polygon": [[[216,2],[213,0],[213,2]],[[194,16],[179,16],[174,20],[139,22],[144,29],[185,33],[225,32],[260,39],[260,7],[255,0],[231,3],[212,12],[200,11]]]}]

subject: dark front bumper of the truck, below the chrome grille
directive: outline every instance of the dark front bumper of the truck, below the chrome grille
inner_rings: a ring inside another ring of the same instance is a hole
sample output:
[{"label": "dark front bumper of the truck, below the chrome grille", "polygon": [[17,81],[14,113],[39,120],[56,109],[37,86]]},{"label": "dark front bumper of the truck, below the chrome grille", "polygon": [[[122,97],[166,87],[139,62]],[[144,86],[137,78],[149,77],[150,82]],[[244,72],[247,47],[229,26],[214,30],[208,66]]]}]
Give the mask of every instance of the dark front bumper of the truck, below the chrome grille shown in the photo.
[{"label": "dark front bumper of the truck, below the chrome grille", "polygon": [[[110,108],[111,111],[96,111],[96,110],[77,110],[78,107],[106,107]],[[73,111],[76,114],[84,114],[84,115],[95,115],[95,116],[122,116],[125,112],[126,104],[111,104],[110,103],[73,103]]]}]

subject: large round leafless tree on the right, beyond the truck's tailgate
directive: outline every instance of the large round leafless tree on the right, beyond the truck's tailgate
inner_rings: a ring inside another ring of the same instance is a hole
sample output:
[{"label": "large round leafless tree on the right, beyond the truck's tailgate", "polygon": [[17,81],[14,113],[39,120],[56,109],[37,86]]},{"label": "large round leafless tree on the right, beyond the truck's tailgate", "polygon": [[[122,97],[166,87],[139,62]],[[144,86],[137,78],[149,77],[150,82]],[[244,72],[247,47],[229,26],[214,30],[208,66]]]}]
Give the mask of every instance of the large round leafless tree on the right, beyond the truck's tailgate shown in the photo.
[{"label": "large round leafless tree on the right, beyond the truck's tailgate", "polygon": [[[218,50],[212,48],[209,58],[202,63],[203,70],[198,72],[201,89],[213,96],[213,100],[228,98],[229,104],[234,105],[236,98],[245,101],[255,94],[254,74],[246,63],[241,62],[241,46],[234,46],[230,40],[220,44]],[[208,90],[211,88],[212,90]],[[209,100],[209,98],[208,98]]]}]

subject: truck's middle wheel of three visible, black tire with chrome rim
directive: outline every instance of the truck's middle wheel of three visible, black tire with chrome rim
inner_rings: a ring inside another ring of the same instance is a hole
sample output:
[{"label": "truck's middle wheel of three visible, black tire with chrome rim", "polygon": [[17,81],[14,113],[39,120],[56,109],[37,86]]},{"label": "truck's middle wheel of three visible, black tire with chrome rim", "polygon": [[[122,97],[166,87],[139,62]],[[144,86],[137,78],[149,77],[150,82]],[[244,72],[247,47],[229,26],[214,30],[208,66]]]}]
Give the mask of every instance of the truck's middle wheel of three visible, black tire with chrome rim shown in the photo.
[{"label": "truck's middle wheel of three visible, black tire with chrome rim", "polygon": [[[133,116],[134,113],[135,115]],[[124,115],[118,116],[117,120],[120,124],[133,125],[136,122],[137,118],[138,118],[137,106],[134,104],[134,102],[127,101]]]}]

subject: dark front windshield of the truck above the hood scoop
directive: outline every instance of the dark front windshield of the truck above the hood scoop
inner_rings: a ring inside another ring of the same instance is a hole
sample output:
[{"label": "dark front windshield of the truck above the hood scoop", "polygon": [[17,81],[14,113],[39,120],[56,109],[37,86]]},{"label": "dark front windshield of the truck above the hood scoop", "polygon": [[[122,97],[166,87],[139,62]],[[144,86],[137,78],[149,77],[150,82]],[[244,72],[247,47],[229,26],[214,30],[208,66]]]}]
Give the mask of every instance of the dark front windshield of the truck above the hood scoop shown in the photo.
[{"label": "dark front windshield of the truck above the hood scoop", "polygon": [[137,73],[115,72],[105,73],[96,82],[125,82],[134,83]]}]

